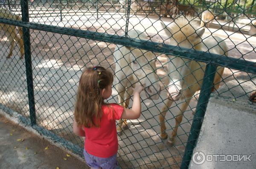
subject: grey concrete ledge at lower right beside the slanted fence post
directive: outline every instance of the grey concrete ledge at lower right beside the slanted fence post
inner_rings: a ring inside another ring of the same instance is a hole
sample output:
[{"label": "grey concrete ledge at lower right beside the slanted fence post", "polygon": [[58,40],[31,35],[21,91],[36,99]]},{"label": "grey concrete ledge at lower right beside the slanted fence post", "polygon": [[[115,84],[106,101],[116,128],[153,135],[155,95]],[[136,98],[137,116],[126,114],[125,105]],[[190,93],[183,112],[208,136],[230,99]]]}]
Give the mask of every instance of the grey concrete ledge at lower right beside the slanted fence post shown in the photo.
[{"label": "grey concrete ledge at lower right beside the slanted fence post", "polygon": [[[219,93],[222,93],[220,96],[217,93],[211,95],[194,149],[194,153],[198,154],[200,151],[205,157],[207,155],[229,156],[221,158],[215,156],[217,161],[213,157],[213,161],[206,160],[200,165],[195,163],[197,161],[191,161],[190,169],[255,169],[256,104],[250,103],[248,95],[256,90],[256,83],[252,80],[239,83],[239,86],[237,83],[239,82],[236,80],[230,81],[220,88]],[[248,158],[247,161],[220,161],[224,158],[230,159],[230,155],[247,155],[251,161]],[[202,159],[203,156],[200,157]],[[211,156],[208,157],[210,159]],[[198,160],[200,162],[200,158]]]}]

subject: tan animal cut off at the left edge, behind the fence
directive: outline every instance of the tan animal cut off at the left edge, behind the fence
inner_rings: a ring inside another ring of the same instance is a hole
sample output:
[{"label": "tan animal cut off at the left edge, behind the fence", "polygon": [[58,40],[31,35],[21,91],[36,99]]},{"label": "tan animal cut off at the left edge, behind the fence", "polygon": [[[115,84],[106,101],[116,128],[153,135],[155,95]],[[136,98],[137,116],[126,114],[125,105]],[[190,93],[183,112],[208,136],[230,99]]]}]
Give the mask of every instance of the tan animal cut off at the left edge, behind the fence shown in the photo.
[{"label": "tan animal cut off at the left edge, behind the fence", "polygon": [[[0,8],[0,18],[11,19],[11,20],[21,20],[21,17],[5,8]],[[12,56],[12,51],[14,49],[15,41],[20,47],[20,59],[23,59],[24,56],[24,42],[23,42],[23,31],[21,27],[18,27],[18,33],[20,37],[17,36],[16,28],[14,25],[8,25],[0,23],[0,28],[5,32],[9,42],[11,43],[9,54],[6,58]]]}]

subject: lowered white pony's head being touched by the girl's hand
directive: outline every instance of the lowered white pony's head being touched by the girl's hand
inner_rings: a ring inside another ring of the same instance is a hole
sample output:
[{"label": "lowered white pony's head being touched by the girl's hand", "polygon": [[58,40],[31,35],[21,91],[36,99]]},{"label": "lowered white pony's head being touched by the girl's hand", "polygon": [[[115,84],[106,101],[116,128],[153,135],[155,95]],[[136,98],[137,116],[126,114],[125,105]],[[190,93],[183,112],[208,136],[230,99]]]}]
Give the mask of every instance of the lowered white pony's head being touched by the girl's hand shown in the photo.
[{"label": "lowered white pony's head being touched by the girl's hand", "polygon": [[158,99],[160,82],[156,74],[156,56],[151,51],[125,47],[128,53],[128,64],[133,70],[133,79],[143,85],[148,99]]}]

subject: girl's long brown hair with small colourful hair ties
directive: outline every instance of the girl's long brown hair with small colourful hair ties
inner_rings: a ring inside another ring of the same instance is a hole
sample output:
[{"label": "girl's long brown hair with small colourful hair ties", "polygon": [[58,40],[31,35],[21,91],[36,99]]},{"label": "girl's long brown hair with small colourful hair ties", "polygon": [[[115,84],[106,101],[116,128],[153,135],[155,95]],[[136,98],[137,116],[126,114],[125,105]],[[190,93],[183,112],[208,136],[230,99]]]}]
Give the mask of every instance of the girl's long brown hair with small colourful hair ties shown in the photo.
[{"label": "girl's long brown hair with small colourful hair ties", "polygon": [[102,117],[102,90],[113,83],[113,75],[103,67],[87,68],[79,80],[75,106],[75,120],[78,126],[99,127]]}]

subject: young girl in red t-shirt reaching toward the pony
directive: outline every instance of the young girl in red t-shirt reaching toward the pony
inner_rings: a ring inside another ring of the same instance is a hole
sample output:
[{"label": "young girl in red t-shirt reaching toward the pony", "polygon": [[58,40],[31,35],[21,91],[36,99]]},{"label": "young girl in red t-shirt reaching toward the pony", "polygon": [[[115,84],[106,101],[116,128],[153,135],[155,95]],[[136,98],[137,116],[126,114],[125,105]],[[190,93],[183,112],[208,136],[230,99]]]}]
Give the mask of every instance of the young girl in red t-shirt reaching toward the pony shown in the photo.
[{"label": "young girl in red t-shirt reaching toward the pony", "polygon": [[118,149],[116,120],[140,117],[141,85],[134,88],[131,109],[118,104],[107,104],[112,93],[113,75],[96,66],[85,70],[80,78],[73,132],[84,136],[84,158],[92,169],[115,169]]}]

